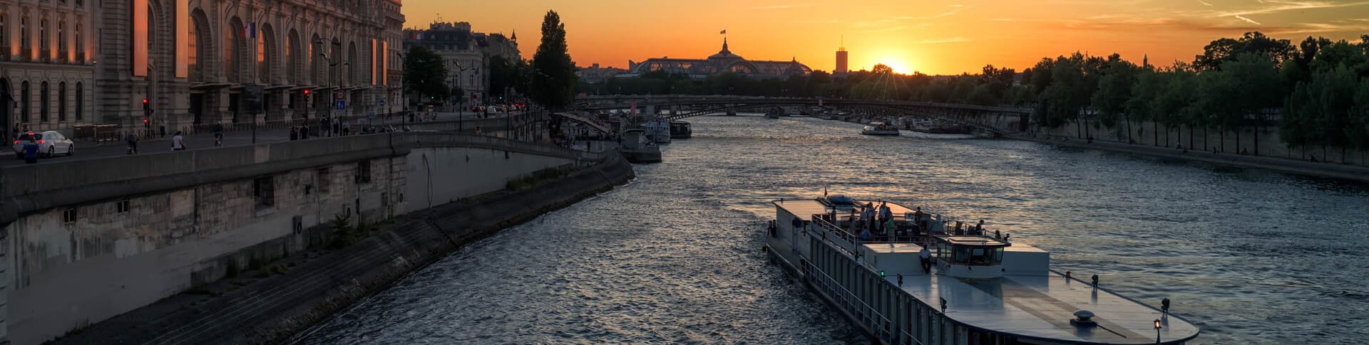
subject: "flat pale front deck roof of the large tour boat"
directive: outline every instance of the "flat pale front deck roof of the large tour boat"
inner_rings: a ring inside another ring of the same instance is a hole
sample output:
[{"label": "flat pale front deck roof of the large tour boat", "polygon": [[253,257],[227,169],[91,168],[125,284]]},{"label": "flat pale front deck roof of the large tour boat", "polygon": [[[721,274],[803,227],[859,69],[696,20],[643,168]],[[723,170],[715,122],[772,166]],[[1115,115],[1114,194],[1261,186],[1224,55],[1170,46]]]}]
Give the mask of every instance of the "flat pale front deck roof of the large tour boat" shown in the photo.
[{"label": "flat pale front deck roof of the large tour boat", "polygon": [[[898,284],[897,277],[884,277]],[[1003,334],[1090,344],[1154,344],[1154,320],[1165,342],[1198,337],[1198,326],[1064,274],[961,280],[936,274],[904,275],[904,292],[934,308],[946,299],[946,316]],[[1158,303],[1157,303],[1158,304]],[[1095,327],[1069,323],[1075,311],[1094,312]]]}]

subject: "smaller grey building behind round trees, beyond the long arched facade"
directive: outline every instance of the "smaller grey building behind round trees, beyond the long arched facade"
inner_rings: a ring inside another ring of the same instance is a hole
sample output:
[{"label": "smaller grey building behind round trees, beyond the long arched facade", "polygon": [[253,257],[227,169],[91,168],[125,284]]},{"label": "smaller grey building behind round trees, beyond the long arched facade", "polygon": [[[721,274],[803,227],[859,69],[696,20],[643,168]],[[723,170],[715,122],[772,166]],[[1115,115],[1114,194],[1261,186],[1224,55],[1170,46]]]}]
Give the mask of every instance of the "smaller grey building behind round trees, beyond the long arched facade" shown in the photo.
[{"label": "smaller grey building behind round trees, beyond the long arched facade", "polygon": [[[508,90],[490,90],[490,60],[504,57],[509,61],[522,59],[517,49],[517,33],[504,34],[476,33],[467,22],[434,22],[428,29],[404,30],[404,50],[420,45],[428,48],[446,63],[449,86],[460,89],[467,104],[483,104],[490,98],[504,95]],[[419,100],[411,100],[418,102]],[[456,101],[456,100],[446,100]]]}]

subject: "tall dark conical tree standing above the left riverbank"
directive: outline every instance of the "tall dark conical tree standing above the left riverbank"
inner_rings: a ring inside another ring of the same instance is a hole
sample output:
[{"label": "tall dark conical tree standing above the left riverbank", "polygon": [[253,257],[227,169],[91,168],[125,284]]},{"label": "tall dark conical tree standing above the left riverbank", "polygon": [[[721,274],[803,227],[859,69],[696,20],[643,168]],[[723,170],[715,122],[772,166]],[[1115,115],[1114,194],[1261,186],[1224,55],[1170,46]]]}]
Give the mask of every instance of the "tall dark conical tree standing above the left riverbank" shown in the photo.
[{"label": "tall dark conical tree standing above the left riverbank", "polygon": [[575,61],[567,52],[565,25],[556,11],[542,18],[542,42],[533,55],[531,97],[550,110],[570,106],[575,100]]}]

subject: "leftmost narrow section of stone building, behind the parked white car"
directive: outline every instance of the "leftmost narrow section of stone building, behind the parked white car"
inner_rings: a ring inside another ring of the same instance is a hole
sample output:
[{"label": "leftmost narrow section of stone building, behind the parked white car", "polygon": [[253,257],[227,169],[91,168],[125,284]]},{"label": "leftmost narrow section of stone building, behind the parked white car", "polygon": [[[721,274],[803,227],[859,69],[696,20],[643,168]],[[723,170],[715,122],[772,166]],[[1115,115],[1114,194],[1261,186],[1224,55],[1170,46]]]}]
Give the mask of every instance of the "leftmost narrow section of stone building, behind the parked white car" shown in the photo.
[{"label": "leftmost narrow section of stone building, behind the parked white car", "polygon": [[94,121],[97,7],[0,0],[0,138]]}]

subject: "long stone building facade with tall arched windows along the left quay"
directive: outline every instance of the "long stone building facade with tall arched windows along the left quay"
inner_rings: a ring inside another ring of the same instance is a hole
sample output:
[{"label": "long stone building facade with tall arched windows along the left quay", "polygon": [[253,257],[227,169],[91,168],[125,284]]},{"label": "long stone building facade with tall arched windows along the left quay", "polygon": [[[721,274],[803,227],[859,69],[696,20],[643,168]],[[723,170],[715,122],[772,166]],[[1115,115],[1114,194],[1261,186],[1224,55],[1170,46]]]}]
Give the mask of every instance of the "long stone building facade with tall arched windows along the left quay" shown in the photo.
[{"label": "long stone building facade with tall arched windows along the left quay", "polygon": [[0,18],[5,124],[160,134],[400,105],[400,0],[0,0]]}]

